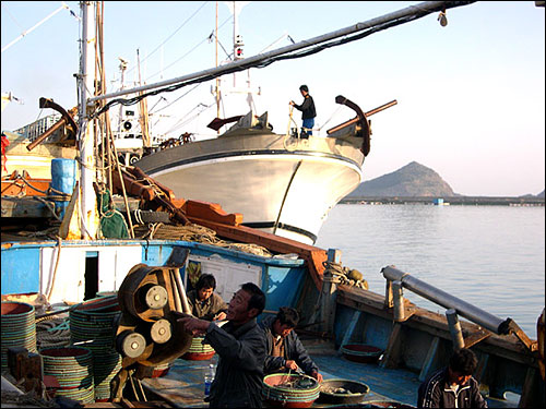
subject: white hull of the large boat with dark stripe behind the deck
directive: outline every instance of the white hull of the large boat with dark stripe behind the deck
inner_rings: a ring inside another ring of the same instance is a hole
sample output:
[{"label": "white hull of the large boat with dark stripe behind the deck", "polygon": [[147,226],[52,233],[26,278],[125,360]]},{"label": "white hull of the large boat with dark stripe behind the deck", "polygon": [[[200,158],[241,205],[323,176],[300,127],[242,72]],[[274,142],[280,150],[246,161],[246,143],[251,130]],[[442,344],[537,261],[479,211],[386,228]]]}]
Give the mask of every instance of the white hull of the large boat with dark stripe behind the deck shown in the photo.
[{"label": "white hull of the large boat with dark stripe behind the deck", "polygon": [[218,203],[244,225],[312,244],[330,209],[363,178],[360,141],[244,132],[135,164],[177,197]]}]

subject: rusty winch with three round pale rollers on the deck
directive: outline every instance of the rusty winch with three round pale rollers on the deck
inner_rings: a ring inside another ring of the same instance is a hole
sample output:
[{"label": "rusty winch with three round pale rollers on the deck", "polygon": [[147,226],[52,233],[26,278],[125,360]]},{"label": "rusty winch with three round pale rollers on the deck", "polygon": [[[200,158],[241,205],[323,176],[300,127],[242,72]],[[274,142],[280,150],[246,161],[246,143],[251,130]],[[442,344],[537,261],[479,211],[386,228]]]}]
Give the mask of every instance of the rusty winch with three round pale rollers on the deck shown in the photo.
[{"label": "rusty winch with three round pale rollers on the deck", "polygon": [[166,266],[136,264],[119,287],[116,349],[122,357],[122,369],[112,381],[114,401],[121,399],[131,375],[138,380],[151,376],[154,366],[190,349],[192,336],[180,327],[176,315],[191,314],[179,273],[188,255],[187,249],[175,246]]}]

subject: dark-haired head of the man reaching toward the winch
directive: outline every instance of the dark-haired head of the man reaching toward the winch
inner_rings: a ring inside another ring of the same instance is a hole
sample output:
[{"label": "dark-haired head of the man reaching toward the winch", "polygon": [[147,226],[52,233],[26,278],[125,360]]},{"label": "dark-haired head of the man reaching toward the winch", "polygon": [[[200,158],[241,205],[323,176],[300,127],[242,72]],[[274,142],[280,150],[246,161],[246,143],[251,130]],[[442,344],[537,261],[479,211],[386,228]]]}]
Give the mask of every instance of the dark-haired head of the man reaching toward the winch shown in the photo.
[{"label": "dark-haired head of the man reaching toward the winch", "polygon": [[260,315],[265,308],[265,294],[253,282],[244,284],[227,308],[227,320],[242,325]]}]

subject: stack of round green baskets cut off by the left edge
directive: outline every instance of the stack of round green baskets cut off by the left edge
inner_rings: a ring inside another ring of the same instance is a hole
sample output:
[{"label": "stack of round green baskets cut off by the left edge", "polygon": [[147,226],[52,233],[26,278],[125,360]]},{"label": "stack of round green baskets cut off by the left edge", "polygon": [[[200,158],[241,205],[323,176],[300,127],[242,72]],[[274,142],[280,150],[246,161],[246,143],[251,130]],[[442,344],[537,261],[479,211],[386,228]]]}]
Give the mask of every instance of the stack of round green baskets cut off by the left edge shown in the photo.
[{"label": "stack of round green baskets cut off by the left edge", "polygon": [[8,349],[36,350],[36,318],[34,305],[24,302],[3,301],[1,321],[2,371],[8,369]]}]

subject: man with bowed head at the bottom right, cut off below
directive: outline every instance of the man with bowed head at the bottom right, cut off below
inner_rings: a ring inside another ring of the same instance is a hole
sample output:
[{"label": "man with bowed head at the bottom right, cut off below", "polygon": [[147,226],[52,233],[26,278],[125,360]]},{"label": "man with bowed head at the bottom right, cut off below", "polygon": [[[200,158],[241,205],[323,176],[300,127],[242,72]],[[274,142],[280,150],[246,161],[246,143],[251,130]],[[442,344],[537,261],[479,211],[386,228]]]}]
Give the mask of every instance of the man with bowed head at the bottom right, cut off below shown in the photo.
[{"label": "man with bowed head at the bottom right, cut off below", "polygon": [[470,349],[455,351],[448,368],[420,384],[417,408],[487,408],[479,384],[472,377],[476,366],[476,356]]}]

